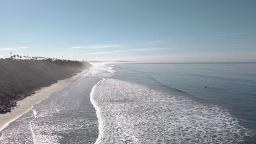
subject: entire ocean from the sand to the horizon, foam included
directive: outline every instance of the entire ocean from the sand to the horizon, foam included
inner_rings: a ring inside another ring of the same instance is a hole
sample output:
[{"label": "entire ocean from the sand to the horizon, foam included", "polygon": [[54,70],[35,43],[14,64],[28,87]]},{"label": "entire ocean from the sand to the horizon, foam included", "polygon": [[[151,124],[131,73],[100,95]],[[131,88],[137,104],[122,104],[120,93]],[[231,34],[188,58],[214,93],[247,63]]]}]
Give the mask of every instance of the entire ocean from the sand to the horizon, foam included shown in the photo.
[{"label": "entire ocean from the sand to the horizon, foam included", "polygon": [[256,63],[92,63],[0,143],[256,143]]}]

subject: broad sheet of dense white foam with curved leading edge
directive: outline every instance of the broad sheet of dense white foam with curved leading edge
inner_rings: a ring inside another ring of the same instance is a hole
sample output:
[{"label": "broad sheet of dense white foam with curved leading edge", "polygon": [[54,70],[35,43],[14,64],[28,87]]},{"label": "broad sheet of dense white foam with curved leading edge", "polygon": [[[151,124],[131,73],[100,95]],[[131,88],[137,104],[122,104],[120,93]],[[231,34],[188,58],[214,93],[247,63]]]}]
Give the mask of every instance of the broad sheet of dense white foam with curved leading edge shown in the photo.
[{"label": "broad sheet of dense white foam with curved leading edge", "polygon": [[237,143],[252,135],[218,106],[125,81],[98,82],[91,102],[100,123],[96,143]]}]

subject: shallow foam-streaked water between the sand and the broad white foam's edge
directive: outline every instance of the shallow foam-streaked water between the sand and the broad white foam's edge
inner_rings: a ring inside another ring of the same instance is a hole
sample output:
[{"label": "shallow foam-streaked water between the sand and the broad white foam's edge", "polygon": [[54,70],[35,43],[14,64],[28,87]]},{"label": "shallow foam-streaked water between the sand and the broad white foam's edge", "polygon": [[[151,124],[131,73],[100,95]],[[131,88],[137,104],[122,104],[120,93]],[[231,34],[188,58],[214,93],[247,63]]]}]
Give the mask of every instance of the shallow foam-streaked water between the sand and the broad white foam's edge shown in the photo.
[{"label": "shallow foam-streaked water between the sand and the broad white foam's edge", "polygon": [[97,118],[85,88],[80,80],[34,105],[1,131],[0,143],[94,143]]}]

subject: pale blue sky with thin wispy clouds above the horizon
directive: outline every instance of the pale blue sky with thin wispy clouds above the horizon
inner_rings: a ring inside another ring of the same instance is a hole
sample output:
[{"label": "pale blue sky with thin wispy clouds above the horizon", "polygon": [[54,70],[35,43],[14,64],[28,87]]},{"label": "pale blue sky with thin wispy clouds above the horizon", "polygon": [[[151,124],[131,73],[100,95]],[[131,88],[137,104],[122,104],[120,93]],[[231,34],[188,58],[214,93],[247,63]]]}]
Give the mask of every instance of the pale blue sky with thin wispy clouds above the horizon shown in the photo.
[{"label": "pale blue sky with thin wispy clouds above the horizon", "polygon": [[0,0],[0,57],[256,62],[256,1]]}]

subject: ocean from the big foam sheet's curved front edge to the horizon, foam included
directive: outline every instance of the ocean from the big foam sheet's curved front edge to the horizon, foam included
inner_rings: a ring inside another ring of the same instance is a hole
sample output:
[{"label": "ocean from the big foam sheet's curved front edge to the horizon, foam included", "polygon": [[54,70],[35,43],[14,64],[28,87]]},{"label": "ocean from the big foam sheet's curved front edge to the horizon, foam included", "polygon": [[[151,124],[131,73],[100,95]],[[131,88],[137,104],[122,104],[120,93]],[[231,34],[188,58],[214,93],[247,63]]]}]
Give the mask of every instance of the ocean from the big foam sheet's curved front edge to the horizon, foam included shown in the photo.
[{"label": "ocean from the big foam sheet's curved front edge to the horizon, foam included", "polygon": [[255,143],[256,63],[106,65],[96,143]]}]

